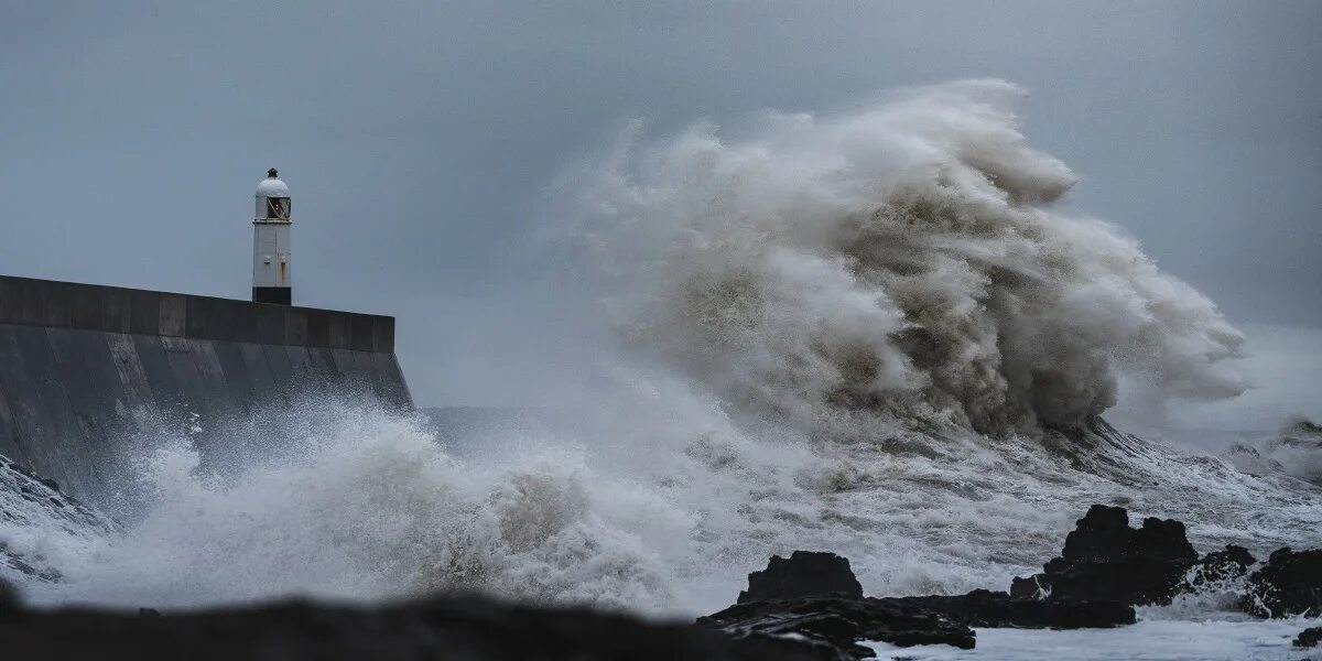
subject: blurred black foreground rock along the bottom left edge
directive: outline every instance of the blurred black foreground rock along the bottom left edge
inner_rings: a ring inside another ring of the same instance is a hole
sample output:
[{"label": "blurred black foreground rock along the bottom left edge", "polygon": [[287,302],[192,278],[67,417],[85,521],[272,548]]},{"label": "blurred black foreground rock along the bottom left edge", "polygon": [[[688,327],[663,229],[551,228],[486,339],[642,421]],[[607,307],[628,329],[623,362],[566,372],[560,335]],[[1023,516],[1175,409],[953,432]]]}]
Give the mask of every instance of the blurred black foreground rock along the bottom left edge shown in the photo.
[{"label": "blurred black foreground rock along the bottom left edge", "polygon": [[586,609],[538,609],[483,599],[386,608],[287,603],[163,613],[20,611],[0,617],[0,656],[49,661],[135,658],[361,660],[836,660],[775,639],[731,640],[691,624],[648,624]]}]

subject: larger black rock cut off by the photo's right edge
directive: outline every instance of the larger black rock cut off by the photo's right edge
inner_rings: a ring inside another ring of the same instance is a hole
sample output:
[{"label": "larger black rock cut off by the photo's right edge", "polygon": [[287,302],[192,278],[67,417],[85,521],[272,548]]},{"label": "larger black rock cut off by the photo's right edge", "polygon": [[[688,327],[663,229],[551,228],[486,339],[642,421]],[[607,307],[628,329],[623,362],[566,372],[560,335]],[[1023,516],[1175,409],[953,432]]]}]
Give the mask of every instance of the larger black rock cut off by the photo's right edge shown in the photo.
[{"label": "larger black rock cut off by the photo's right edge", "polygon": [[1260,617],[1322,615],[1322,549],[1278,549],[1248,578],[1240,605]]}]

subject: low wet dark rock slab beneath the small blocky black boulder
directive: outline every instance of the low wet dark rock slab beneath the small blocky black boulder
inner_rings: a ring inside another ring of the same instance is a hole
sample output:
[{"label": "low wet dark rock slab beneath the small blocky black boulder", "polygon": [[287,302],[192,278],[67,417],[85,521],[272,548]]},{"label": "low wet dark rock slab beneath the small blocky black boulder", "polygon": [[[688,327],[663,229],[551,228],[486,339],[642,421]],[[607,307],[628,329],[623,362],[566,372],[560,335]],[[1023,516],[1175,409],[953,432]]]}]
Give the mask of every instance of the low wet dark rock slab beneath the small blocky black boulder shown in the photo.
[{"label": "low wet dark rock slab beneath the small blocky black boulder", "polygon": [[735,640],[798,640],[806,649],[829,649],[834,657],[866,658],[873,652],[859,641],[892,645],[954,645],[973,649],[973,629],[917,605],[884,599],[814,596],[744,602],[699,617],[698,624]]}]

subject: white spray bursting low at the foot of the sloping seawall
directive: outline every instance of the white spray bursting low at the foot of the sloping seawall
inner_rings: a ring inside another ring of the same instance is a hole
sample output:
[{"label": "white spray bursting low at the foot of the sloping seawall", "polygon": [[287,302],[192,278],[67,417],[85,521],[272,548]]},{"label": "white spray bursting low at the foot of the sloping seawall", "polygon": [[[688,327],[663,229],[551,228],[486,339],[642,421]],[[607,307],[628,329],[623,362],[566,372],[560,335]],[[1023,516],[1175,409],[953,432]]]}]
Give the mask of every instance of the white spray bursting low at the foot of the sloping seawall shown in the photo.
[{"label": "white spray bursting low at the foot of the sloping seawall", "polygon": [[645,535],[665,508],[604,501],[608,480],[547,448],[475,469],[412,418],[323,411],[282,461],[206,469],[188,439],[145,463],[147,513],[46,599],[185,607],[308,594],[334,599],[493,592],[526,602],[654,608],[673,598]]}]

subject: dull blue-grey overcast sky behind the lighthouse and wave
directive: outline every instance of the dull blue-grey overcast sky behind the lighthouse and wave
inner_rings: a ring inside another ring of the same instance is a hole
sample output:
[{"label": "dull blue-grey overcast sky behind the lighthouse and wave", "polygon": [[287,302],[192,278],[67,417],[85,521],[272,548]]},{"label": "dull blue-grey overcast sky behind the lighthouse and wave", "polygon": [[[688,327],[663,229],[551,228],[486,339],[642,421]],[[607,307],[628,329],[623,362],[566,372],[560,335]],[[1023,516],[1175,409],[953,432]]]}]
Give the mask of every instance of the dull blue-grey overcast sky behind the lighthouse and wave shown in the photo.
[{"label": "dull blue-grey overcast sky behind the lighthouse and wave", "polygon": [[1208,424],[1322,415],[1319,34],[1317,1],[0,0],[0,272],[246,297],[275,165],[297,303],[395,315],[419,405],[517,405],[580,312],[525,237],[621,120],[997,77],[1069,204],[1248,329],[1276,403]]}]

